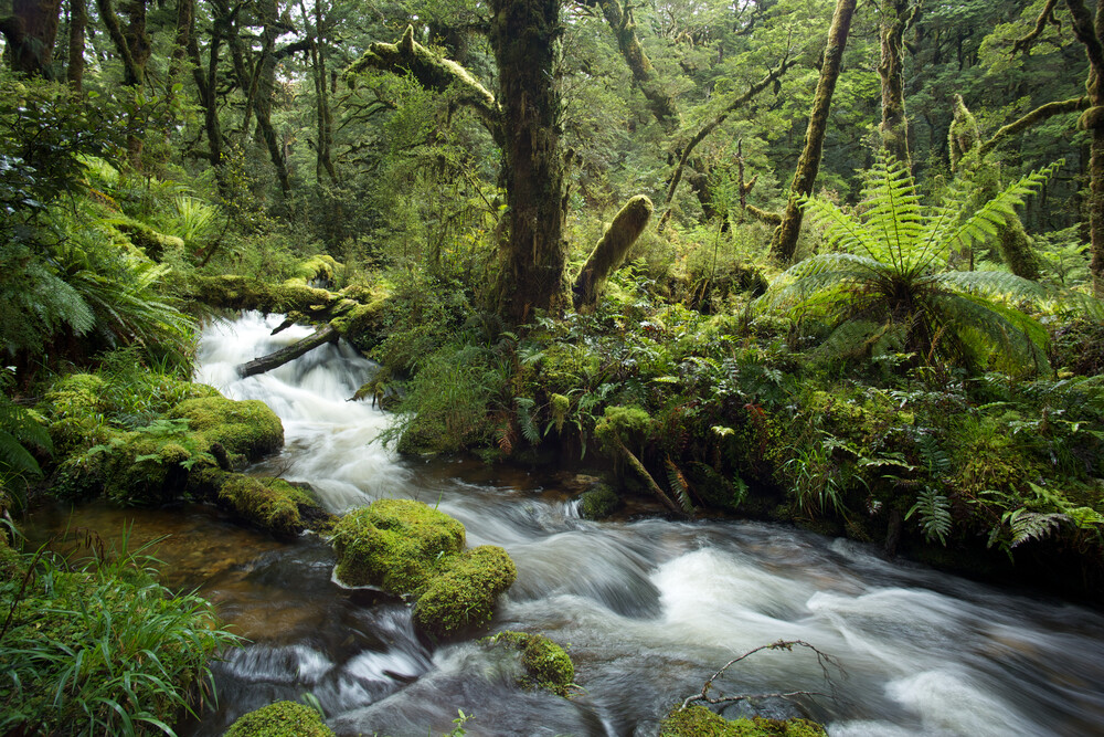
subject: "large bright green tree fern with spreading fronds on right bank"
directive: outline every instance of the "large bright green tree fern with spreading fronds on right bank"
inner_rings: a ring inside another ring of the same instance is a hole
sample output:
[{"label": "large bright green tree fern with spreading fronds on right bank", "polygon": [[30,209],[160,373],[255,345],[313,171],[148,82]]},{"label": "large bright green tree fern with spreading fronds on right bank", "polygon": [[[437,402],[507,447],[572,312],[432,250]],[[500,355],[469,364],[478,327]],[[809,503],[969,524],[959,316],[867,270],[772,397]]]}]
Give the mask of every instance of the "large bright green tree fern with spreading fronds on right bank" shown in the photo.
[{"label": "large bright green tree fern with spreading fronds on right bank", "polygon": [[994,357],[1009,370],[1044,367],[1047,331],[1020,307],[1064,303],[1102,312],[1101,305],[1005,272],[948,267],[955,253],[991,238],[1057,166],[1023,177],[979,208],[960,187],[943,204],[924,208],[907,169],[879,158],[868,175],[861,215],[826,200],[803,200],[809,221],[824,230],[826,251],[790,267],[758,305],[842,330],[829,337],[828,352],[858,333],[869,336],[873,326],[893,324],[905,330],[905,350],[925,358],[972,368]]}]

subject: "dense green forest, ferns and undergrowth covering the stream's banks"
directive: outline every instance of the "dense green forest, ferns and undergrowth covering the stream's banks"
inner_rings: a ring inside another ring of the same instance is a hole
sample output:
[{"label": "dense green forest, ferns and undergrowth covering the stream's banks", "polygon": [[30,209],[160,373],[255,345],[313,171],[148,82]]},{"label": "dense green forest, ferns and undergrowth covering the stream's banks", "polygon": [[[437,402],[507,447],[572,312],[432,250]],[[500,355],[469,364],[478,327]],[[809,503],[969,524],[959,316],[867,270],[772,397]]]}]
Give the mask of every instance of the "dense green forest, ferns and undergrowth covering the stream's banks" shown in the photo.
[{"label": "dense green forest, ferns and undergrowth covering the stream's banks", "polygon": [[[188,381],[199,320],[256,308],[380,361],[359,397],[404,452],[553,452],[605,476],[595,514],[650,496],[1098,601],[1104,10],[93,4],[0,6],[9,517],[329,524],[236,473],[275,415]],[[4,632],[47,597],[209,615],[114,565],[12,562]],[[135,731],[188,703],[79,694]],[[77,708],[26,704],[4,724]]]}]

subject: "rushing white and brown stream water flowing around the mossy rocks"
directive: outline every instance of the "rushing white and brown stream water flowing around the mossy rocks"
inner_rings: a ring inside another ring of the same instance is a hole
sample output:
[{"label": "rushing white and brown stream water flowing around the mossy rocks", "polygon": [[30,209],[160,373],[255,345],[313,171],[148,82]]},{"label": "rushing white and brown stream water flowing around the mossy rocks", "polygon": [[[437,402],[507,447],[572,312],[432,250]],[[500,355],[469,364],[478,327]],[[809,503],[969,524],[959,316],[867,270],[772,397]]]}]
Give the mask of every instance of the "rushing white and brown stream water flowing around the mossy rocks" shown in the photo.
[{"label": "rushing white and brown stream water flowing around the mossy rocks", "polygon": [[[215,324],[200,348],[200,381],[262,399],[284,421],[286,449],[261,471],[310,482],[333,512],[421,499],[461,520],[469,545],[505,547],[518,580],[491,631],[570,645],[581,691],[570,701],[523,692],[512,656],[474,642],[428,646],[402,601],[338,586],[332,552],[311,536],[278,544],[211,510],[145,513],[136,536],[174,534],[160,555],[169,582],[199,586],[252,640],[215,664],[220,708],[185,735],[220,735],[244,712],[307,693],[340,735],[439,735],[457,709],[475,715],[469,735],[655,735],[716,668],[779,639],[815,645],[843,672],[829,667],[827,686],[810,651],[761,652],[718,689],[835,688],[803,704],[840,736],[1104,734],[1098,613],[778,525],[587,522],[549,480],[400,460],[378,440],[386,415],[347,401],[371,371],[348,347],[238,379],[235,365],[307,333],[270,336],[276,324]],[[82,523],[118,526],[119,514],[93,508]],[[756,706],[803,713],[779,698]]]}]

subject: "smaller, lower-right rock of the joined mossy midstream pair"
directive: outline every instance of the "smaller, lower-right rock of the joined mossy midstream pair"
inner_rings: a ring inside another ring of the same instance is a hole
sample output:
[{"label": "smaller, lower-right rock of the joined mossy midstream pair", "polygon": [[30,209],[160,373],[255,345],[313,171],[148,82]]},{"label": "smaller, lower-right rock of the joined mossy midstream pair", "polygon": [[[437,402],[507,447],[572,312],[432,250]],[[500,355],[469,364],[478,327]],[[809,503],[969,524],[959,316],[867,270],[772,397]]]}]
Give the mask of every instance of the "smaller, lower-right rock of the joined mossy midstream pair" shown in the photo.
[{"label": "smaller, lower-right rock of the joined mossy midstream pair", "polygon": [[490,621],[495,600],[518,578],[506,550],[482,545],[445,561],[414,606],[414,623],[447,638]]}]

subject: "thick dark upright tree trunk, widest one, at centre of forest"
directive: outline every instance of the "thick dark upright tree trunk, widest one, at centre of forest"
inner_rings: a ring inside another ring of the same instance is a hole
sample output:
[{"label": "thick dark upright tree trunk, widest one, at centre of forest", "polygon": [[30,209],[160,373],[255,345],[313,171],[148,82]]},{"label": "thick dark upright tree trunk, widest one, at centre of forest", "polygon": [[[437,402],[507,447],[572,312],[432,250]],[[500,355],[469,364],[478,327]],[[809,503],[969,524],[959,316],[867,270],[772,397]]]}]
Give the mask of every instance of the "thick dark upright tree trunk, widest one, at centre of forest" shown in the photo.
[{"label": "thick dark upright tree trunk, widest one, at centre of forest", "polygon": [[520,324],[566,302],[563,105],[554,78],[563,29],[559,0],[491,0],[490,7],[510,225],[501,312]]}]

